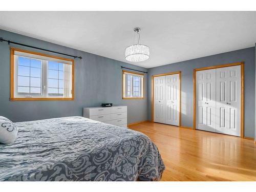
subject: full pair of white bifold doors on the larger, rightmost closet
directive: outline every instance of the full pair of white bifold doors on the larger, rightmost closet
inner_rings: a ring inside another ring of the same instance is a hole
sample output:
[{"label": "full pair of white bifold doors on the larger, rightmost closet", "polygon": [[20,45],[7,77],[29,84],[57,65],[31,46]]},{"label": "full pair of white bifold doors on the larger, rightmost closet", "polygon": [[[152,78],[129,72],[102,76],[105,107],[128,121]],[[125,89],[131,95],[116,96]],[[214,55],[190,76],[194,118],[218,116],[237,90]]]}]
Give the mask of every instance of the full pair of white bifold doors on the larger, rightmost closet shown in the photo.
[{"label": "full pair of white bifold doors on the larger, rightmost closet", "polygon": [[196,72],[196,129],[241,136],[241,66]]}]

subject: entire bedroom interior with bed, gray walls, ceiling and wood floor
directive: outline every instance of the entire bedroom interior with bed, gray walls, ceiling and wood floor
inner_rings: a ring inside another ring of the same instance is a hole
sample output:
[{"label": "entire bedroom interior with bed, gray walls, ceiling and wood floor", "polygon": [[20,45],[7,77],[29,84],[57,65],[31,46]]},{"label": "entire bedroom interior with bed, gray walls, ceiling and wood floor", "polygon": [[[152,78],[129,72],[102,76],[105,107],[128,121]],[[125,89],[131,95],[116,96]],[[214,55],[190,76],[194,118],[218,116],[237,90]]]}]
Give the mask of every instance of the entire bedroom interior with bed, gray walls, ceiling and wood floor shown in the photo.
[{"label": "entire bedroom interior with bed, gray walls, ceiling and wood floor", "polygon": [[1,184],[255,184],[255,11],[33,10],[0,11]]}]

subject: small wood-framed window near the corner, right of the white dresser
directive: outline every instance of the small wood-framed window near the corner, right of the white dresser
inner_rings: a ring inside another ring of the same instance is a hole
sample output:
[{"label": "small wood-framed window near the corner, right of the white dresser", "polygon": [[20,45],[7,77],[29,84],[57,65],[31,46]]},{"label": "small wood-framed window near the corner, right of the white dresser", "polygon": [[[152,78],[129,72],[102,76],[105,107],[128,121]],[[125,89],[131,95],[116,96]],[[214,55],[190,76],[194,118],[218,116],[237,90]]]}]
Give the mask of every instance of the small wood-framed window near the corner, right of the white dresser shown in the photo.
[{"label": "small wood-framed window near the corner, right of the white dresser", "polygon": [[123,70],[123,99],[143,99],[144,74]]}]

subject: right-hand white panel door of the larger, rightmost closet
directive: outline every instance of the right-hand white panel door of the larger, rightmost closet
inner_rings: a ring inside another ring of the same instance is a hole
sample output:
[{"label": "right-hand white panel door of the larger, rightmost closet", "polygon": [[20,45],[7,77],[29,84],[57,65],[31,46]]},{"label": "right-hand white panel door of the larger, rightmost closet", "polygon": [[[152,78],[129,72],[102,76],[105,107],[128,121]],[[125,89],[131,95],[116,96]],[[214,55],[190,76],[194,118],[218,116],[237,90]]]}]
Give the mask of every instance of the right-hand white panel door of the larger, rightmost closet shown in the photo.
[{"label": "right-hand white panel door of the larger, rightmost closet", "polygon": [[241,66],[216,69],[216,132],[241,135]]}]

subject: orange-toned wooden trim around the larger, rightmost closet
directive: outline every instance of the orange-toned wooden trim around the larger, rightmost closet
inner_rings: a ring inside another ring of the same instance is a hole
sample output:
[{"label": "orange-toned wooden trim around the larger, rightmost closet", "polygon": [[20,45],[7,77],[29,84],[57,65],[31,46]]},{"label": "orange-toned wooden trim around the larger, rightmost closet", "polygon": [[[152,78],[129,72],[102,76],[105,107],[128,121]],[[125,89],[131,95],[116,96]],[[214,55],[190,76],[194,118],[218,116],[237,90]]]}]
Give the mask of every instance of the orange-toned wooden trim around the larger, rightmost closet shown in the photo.
[{"label": "orange-toned wooden trim around the larger, rightmost closet", "polygon": [[231,66],[241,66],[241,134],[240,137],[244,138],[244,61],[226,63],[219,66],[210,66],[196,68],[193,70],[193,100],[194,100],[194,112],[193,112],[193,129],[196,129],[196,72],[209,69],[218,69]]}]

